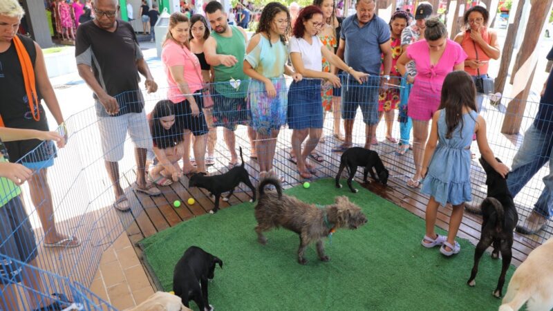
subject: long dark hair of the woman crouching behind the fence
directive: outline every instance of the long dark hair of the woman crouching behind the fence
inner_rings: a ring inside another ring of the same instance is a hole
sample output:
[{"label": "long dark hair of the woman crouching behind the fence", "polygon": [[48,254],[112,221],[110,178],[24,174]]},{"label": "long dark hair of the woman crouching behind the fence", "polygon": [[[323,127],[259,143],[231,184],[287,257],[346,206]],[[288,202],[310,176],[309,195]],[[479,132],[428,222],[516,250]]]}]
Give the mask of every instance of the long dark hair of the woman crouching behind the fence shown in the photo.
[{"label": "long dark hair of the woman crouching behind the fence", "polygon": [[151,111],[151,119],[149,120],[151,137],[159,149],[175,147],[176,144],[184,140],[176,115],[175,123],[170,129],[165,129],[161,125],[160,118],[169,117],[169,115],[175,115],[175,104],[170,100],[160,100]]}]

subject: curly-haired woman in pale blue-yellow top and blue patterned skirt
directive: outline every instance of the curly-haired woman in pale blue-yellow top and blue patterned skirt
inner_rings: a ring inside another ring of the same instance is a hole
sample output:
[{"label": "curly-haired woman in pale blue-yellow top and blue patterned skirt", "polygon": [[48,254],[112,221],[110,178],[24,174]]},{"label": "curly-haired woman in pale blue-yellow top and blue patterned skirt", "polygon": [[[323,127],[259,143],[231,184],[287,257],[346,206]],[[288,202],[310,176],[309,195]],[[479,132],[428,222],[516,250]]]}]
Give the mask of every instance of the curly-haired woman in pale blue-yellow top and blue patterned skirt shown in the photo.
[{"label": "curly-haired woman in pale blue-yellow top and blue patterned skirt", "polygon": [[283,74],[292,76],[294,81],[301,80],[301,75],[286,65],[285,34],[289,28],[288,8],[278,2],[268,3],[246,49],[244,73],[252,77],[247,101],[252,112],[252,128],[257,133],[255,147],[260,178],[274,175],[274,149],[279,130],[286,122],[288,94]]}]

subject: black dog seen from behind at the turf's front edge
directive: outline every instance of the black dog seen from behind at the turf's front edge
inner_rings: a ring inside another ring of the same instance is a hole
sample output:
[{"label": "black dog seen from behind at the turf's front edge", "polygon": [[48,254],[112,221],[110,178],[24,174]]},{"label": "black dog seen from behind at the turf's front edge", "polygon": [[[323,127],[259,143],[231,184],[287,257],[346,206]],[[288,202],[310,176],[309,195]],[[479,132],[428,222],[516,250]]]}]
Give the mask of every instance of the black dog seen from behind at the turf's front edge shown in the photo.
[{"label": "black dog seen from behind at the turf's front edge", "polygon": [[175,266],[173,291],[189,307],[189,301],[196,301],[200,311],[212,310],[207,300],[207,280],[213,279],[215,265],[223,268],[223,261],[197,246],[188,247]]}]

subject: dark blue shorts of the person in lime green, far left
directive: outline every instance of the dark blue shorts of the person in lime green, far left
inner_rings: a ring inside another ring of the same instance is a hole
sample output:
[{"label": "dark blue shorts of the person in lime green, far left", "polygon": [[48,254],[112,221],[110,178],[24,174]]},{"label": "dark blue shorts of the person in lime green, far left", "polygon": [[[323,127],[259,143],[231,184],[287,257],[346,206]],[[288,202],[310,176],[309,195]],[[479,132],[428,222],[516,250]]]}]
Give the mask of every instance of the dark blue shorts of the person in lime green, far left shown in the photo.
[{"label": "dark blue shorts of the person in lime green, far left", "polygon": [[35,234],[19,196],[0,207],[0,224],[0,254],[9,257],[0,257],[0,284],[19,283],[21,265],[10,258],[29,263],[37,257]]}]

